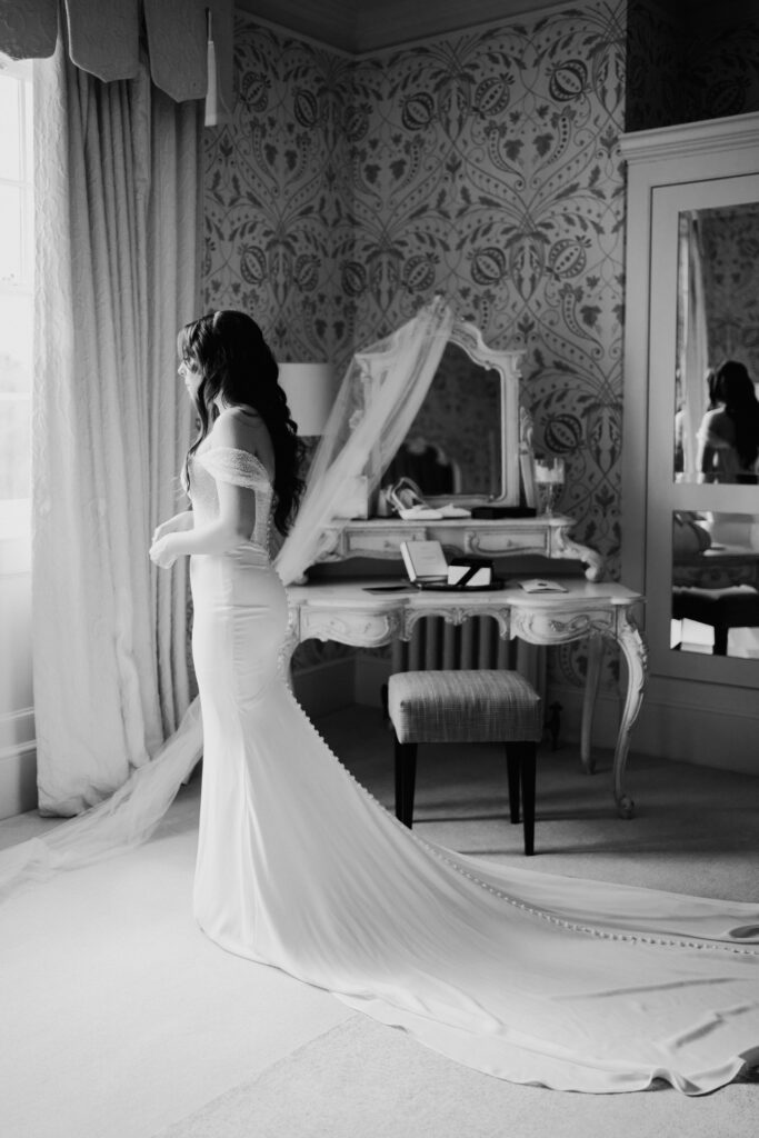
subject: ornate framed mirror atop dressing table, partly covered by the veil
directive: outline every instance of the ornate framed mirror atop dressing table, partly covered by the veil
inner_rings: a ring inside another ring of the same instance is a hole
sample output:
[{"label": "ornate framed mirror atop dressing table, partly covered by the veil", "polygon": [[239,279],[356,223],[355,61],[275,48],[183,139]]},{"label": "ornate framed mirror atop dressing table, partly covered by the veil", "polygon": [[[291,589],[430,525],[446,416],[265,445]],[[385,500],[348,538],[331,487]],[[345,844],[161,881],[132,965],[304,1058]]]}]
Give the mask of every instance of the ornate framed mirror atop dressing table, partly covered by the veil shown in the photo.
[{"label": "ornate framed mirror atop dressing table, partly covered by the veil", "polygon": [[517,505],[521,356],[488,348],[478,328],[455,321],[382,486],[406,477],[432,505]]}]

